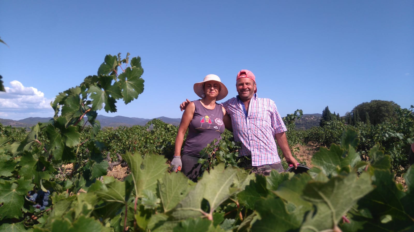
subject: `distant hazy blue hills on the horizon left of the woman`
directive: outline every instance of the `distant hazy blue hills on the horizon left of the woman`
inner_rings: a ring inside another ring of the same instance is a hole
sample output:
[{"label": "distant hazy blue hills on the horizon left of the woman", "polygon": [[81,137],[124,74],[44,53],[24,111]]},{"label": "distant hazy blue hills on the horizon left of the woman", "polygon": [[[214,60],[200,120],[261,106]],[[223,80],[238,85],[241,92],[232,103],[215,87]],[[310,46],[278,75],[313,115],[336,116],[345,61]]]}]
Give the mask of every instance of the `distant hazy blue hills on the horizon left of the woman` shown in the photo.
[{"label": "distant hazy blue hills on the horizon left of the woman", "polygon": [[[32,126],[36,125],[37,123],[46,123],[52,118],[24,118],[22,120],[11,120],[11,119],[2,119],[0,118],[0,123],[2,125],[11,125],[13,127],[26,127],[31,128]],[[98,115],[96,119],[101,123],[101,128],[104,127],[118,127],[118,126],[133,126],[133,125],[145,125],[147,122],[151,121],[152,119],[148,118],[129,118],[124,116],[115,116],[115,117],[108,117],[103,115]],[[167,117],[159,117],[164,123],[172,124],[172,125],[180,125],[181,118],[167,118]]]}]

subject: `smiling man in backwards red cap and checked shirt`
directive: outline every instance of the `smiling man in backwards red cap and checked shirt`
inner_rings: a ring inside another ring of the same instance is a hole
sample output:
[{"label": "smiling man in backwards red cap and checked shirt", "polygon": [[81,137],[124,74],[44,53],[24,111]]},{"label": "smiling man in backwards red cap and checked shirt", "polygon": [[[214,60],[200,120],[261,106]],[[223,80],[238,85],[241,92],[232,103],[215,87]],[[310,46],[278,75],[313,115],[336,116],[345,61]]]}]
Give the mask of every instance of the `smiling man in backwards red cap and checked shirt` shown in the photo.
[{"label": "smiling man in backwards red cap and checked shirt", "polygon": [[[238,96],[221,105],[231,118],[231,122],[224,122],[231,124],[231,127],[226,125],[226,128],[232,128],[234,140],[242,143],[239,157],[247,157],[245,160],[248,160],[248,167],[252,168],[253,173],[269,175],[271,169],[282,172],[283,166],[274,142],[276,138],[287,163],[293,164],[296,169],[297,161],[291,154],[286,138],[287,129],[274,102],[257,96],[255,75],[246,69],[239,71],[236,90]],[[189,102],[183,102],[181,110]]]}]

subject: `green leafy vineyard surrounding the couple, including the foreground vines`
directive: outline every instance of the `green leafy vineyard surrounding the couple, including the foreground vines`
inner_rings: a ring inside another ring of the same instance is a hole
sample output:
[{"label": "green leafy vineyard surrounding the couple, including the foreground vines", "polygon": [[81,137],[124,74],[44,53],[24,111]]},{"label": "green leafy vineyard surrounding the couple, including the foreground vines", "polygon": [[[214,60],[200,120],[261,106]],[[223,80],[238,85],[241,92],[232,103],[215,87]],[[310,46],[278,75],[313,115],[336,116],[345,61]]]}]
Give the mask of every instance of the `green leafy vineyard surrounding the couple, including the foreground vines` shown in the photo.
[{"label": "green leafy vineyard surrounding the couple, including the foreground vines", "polygon": [[[48,123],[29,132],[0,124],[0,231],[414,230],[412,109],[378,125],[329,121],[305,131],[294,130],[301,110],[287,115],[292,153],[319,147],[297,175],[240,168],[240,144],[226,130],[200,152],[205,172],[192,182],[169,171],[178,127],[101,129],[96,120],[144,91],[140,57],[128,56],[107,55],[97,75],[59,93]],[[128,166],[123,180],[106,175],[116,165]]]}]

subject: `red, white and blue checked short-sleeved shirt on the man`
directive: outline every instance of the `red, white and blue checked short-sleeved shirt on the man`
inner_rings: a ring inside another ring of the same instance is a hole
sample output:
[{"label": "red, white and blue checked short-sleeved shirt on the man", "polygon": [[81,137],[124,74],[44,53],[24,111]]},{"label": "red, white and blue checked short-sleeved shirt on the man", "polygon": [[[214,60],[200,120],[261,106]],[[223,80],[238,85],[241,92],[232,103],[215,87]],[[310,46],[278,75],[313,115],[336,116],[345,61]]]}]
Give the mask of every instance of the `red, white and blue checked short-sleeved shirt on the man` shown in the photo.
[{"label": "red, white and blue checked short-sleeved shirt on the man", "polygon": [[287,129],[271,99],[253,95],[248,114],[238,96],[221,104],[231,117],[234,140],[242,143],[239,156],[251,155],[252,166],[280,162],[274,135]]}]

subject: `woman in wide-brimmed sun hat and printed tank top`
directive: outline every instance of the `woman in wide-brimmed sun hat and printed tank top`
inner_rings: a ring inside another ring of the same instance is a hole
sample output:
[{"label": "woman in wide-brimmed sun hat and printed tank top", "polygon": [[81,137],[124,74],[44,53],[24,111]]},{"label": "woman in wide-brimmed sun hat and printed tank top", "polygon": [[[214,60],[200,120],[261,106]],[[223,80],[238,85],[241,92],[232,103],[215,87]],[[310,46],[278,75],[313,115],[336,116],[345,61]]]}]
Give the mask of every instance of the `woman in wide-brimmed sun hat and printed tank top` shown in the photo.
[{"label": "woman in wide-brimmed sun hat and printed tank top", "polygon": [[[229,116],[224,107],[216,103],[228,93],[217,75],[209,74],[202,82],[195,83],[194,92],[201,99],[190,102],[183,113],[171,167],[175,172],[181,167],[181,171],[190,180],[197,181],[197,177],[202,174],[201,165],[198,163],[199,153],[214,139],[221,140],[221,133],[224,132],[223,117]],[[181,152],[187,129],[188,135]]]}]

